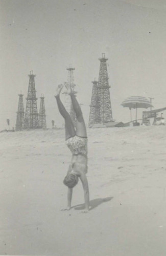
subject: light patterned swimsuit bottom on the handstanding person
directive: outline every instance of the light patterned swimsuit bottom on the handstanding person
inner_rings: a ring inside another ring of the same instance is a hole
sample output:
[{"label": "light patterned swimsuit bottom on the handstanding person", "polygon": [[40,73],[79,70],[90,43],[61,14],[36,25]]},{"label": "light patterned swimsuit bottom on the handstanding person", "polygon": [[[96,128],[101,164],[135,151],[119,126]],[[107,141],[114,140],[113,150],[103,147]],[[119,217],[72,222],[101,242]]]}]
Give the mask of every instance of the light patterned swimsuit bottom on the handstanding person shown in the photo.
[{"label": "light patterned swimsuit bottom on the handstanding person", "polygon": [[87,137],[79,137],[75,135],[66,140],[66,145],[73,155],[85,155],[87,156]]}]

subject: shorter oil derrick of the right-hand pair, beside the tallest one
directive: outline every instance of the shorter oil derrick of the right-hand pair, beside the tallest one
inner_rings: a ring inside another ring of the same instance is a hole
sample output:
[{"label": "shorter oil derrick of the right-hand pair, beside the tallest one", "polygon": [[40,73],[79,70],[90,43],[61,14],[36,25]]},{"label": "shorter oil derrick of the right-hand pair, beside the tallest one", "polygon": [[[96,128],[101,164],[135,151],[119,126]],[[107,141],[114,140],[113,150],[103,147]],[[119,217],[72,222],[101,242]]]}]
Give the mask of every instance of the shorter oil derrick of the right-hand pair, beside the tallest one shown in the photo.
[{"label": "shorter oil derrick of the right-hand pair, beside the tallest one", "polygon": [[92,81],[92,94],[91,94],[91,103],[90,103],[90,114],[89,114],[89,127],[91,127],[94,123],[96,123],[96,101],[97,101],[97,86],[98,81],[94,78]]}]

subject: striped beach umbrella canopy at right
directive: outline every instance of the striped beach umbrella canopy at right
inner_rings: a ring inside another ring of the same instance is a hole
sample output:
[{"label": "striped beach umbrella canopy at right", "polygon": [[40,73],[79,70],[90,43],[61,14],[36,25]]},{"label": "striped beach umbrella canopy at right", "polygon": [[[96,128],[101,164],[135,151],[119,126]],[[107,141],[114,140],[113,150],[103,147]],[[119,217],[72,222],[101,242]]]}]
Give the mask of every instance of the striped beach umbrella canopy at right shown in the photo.
[{"label": "striped beach umbrella canopy at right", "polygon": [[131,96],[125,99],[121,105],[130,109],[137,109],[137,108],[147,109],[147,108],[153,107],[153,105],[150,103],[150,101],[147,98],[141,97],[141,96]]}]

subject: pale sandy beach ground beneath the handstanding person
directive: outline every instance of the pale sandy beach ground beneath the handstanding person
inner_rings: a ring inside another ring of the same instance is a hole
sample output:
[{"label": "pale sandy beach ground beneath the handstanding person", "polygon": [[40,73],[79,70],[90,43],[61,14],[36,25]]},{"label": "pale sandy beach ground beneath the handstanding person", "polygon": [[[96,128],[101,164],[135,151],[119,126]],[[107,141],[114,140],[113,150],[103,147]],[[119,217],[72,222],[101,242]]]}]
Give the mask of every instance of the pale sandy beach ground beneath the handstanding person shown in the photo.
[{"label": "pale sandy beach ground beneath the handstanding person", "polygon": [[165,126],[88,129],[91,210],[62,181],[64,130],[1,133],[2,255],[164,256]]}]

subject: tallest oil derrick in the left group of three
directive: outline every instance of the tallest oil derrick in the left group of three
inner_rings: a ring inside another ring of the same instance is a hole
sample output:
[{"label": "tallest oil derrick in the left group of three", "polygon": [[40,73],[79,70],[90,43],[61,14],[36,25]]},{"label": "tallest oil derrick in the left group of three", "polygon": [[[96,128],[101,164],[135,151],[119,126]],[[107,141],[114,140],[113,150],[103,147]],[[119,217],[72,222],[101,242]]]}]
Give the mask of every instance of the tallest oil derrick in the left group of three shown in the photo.
[{"label": "tallest oil derrick in the left group of three", "polygon": [[30,71],[28,75],[29,87],[28,87],[28,96],[26,98],[26,114],[25,114],[25,129],[37,129],[39,127],[38,123],[38,113],[37,113],[37,98],[35,90],[35,76],[33,71]]}]

